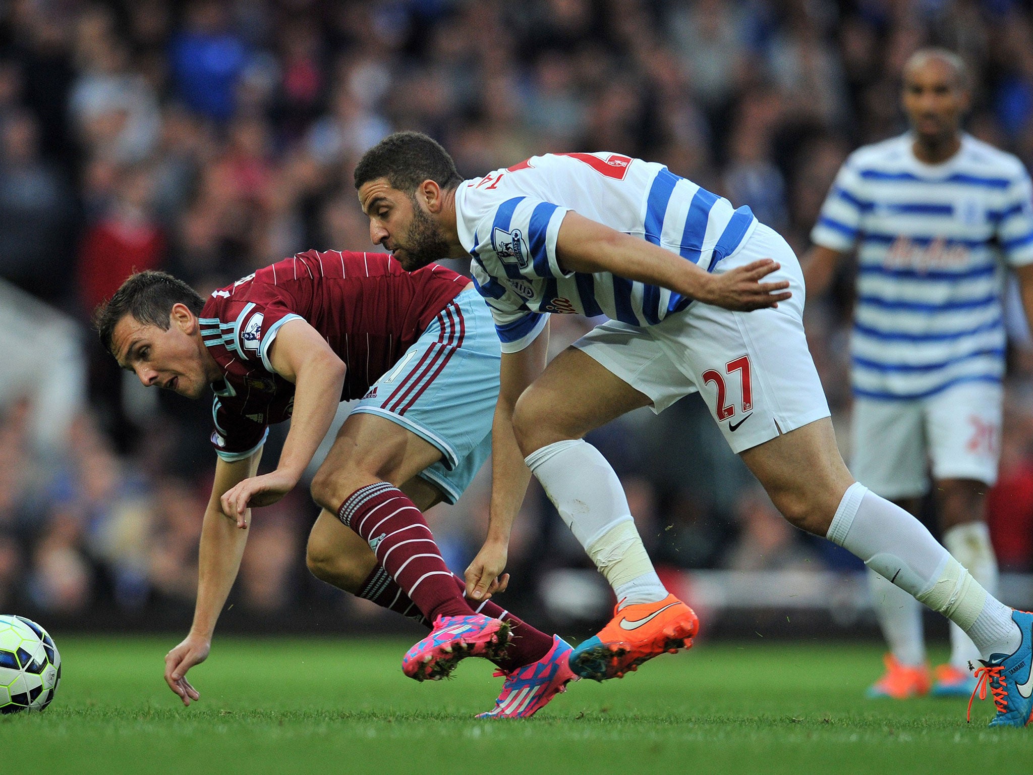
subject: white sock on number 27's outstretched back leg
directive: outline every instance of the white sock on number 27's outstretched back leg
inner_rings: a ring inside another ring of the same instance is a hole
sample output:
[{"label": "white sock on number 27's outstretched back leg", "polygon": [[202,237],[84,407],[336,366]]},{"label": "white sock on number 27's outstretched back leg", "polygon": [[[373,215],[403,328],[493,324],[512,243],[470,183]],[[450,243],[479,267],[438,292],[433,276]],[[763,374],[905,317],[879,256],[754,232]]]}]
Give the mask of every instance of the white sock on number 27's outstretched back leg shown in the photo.
[{"label": "white sock on number 27's outstretched back leg", "polygon": [[1021,645],[1011,609],[988,594],[925,525],[860,483],[843,494],[825,537],[954,622],[984,659]]}]

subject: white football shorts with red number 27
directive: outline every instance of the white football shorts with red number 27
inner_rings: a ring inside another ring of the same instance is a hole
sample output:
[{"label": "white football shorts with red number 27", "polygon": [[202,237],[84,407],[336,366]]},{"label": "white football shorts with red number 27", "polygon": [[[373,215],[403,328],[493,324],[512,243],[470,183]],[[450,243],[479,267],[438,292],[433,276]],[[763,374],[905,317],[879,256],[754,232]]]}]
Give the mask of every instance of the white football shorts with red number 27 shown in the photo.
[{"label": "white football shorts with red number 27", "polygon": [[573,346],[652,399],[657,413],[700,392],[734,453],[827,417],[804,335],[804,275],[792,248],[758,223],[714,273],[760,258],[782,265],[764,281],[789,281],[792,298],[777,309],[731,312],[695,302],[656,326],[608,320]]}]

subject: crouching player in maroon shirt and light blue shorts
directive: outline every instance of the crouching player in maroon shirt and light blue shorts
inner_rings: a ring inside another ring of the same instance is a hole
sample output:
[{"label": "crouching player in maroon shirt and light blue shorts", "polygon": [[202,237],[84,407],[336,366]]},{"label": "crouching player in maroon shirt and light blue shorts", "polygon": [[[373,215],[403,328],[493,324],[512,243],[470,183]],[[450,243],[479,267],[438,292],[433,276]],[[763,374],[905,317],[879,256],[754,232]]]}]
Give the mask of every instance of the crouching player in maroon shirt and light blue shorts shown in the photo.
[{"label": "crouching player in maroon shirt and light blue shorts", "polygon": [[[530,716],[574,678],[559,638],[490,600],[471,610],[421,514],[455,502],[491,448],[499,345],[467,278],[436,265],[407,273],[384,254],[311,250],[207,301],[167,274],[133,275],[96,322],[105,348],[145,385],[215,393],[218,460],[194,622],[165,658],[165,680],[185,705],[198,699],[186,673],[208,656],[249,506],[298,484],[345,399],[358,403],[312,483],[323,509],[309,537],[312,571],[433,623],[403,659],[412,678],[442,678],[465,656],[495,661],[506,681],[482,716]],[[276,470],[256,476],[269,426],[288,417]]]}]

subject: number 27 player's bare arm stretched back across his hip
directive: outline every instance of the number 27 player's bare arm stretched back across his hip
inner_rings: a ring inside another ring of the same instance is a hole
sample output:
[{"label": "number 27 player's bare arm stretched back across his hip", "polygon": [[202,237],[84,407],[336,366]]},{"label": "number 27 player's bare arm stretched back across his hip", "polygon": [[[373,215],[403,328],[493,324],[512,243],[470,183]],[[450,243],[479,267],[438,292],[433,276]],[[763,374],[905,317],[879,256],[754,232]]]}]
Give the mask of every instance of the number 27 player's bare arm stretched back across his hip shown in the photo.
[{"label": "number 27 player's bare arm stretched back across his hip", "polygon": [[719,275],[710,274],[669,250],[573,211],[567,212],[560,225],[556,257],[564,272],[609,272],[725,309],[748,311],[777,307],[779,302],[792,296],[786,290],[787,281],[760,282],[780,268],[771,258]]}]

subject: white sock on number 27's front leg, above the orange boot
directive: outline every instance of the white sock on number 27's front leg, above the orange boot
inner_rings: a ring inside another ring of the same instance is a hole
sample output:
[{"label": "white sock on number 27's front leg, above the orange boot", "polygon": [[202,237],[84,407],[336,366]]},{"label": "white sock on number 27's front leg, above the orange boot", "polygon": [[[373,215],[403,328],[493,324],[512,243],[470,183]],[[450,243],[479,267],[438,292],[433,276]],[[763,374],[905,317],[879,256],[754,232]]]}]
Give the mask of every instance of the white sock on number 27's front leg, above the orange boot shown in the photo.
[{"label": "white sock on number 27's front leg, above the orange boot", "polygon": [[598,450],[584,439],[557,441],[525,462],[622,608],[667,596],[635,530],[621,481]]}]

